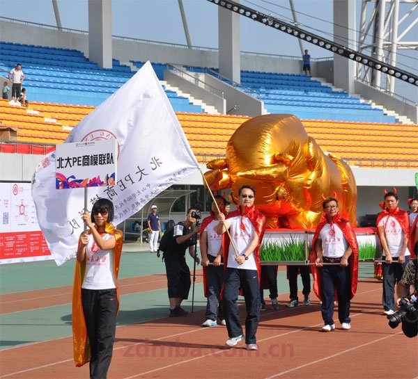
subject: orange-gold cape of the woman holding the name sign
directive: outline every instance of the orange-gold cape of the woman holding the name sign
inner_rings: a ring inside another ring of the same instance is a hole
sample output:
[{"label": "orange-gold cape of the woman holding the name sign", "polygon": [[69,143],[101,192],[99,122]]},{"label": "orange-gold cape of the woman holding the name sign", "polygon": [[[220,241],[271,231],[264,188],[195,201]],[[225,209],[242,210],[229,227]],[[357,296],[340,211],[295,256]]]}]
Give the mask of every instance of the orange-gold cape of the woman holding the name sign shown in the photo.
[{"label": "orange-gold cape of the woman holding the name sign", "polygon": [[[106,233],[115,236],[116,245],[114,247],[114,273],[116,280],[116,295],[118,298],[119,311],[119,292],[118,292],[118,273],[119,263],[121,261],[123,234],[122,231],[116,229],[114,225],[108,223],[105,227]],[[91,234],[89,230],[87,232]],[[84,319],[82,304],[82,284],[86,273],[86,259],[79,262],[75,261],[74,285],[72,286],[72,346],[74,353],[74,362],[77,367],[82,366],[90,361],[90,342],[86,330],[86,321]],[[117,311],[117,312],[118,312]]]}]

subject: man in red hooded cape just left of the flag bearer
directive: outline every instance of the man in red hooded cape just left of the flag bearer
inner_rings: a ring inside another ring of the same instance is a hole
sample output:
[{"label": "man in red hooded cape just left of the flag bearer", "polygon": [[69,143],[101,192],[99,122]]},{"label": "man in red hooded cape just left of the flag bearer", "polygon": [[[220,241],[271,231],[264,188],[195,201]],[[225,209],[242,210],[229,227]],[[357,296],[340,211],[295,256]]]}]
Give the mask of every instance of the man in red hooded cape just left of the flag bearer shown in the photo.
[{"label": "man in red hooded cape just left of the flag bearer", "polygon": [[217,317],[221,320],[221,325],[226,325],[224,307],[222,306],[222,301],[219,302],[219,296],[225,279],[225,271],[222,264],[222,235],[216,232],[218,224],[217,215],[219,211],[225,211],[226,200],[221,195],[216,195],[215,201],[212,202],[210,216],[204,218],[202,221],[200,232],[203,288],[205,296],[208,298],[205,321],[202,323],[202,326],[216,326]]}]

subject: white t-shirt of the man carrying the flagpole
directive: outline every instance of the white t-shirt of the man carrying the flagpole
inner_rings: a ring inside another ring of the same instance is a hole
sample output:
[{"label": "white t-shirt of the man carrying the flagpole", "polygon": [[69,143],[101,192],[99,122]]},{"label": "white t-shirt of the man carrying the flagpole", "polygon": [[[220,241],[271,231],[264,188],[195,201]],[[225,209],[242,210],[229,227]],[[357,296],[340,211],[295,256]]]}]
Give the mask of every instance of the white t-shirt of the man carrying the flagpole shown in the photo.
[{"label": "white t-shirt of the man carrying the flagpole", "polygon": [[[241,216],[229,218],[227,221],[231,223],[229,233],[235,243],[235,248],[238,250],[238,255],[244,255],[248,245],[254,239],[254,226],[251,224],[248,217],[244,217],[242,220],[242,223],[245,225],[245,230],[241,229]],[[254,252],[248,257],[247,261],[243,264],[238,264],[238,262],[235,261],[235,251],[233,250],[232,243],[230,242],[227,267],[240,268],[240,270],[256,270],[257,266],[256,260],[254,259]]]}]

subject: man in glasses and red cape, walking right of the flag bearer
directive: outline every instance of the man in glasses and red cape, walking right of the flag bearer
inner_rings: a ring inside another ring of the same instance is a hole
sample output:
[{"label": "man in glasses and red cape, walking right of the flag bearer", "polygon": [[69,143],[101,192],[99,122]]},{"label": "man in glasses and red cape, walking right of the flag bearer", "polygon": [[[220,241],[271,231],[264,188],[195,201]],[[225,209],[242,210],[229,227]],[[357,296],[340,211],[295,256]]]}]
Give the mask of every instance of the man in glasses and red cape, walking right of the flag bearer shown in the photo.
[{"label": "man in glasses and red cape, walking right of the flag bearer", "polygon": [[[358,248],[353,227],[341,218],[338,201],[328,197],[323,202],[323,216],[316,226],[312,250],[309,257],[314,292],[322,305],[320,307],[325,325],[323,332],[335,329],[334,293],[338,299],[338,318],[343,330],[349,330],[350,300],[357,291]],[[328,265],[325,265],[328,264]]]}]

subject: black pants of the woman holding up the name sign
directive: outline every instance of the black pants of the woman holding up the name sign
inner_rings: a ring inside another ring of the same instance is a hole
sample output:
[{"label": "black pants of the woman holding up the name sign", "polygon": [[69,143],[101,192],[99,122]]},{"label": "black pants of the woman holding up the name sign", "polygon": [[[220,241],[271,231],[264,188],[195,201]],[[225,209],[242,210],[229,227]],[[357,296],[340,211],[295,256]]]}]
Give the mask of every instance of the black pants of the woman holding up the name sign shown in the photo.
[{"label": "black pants of the woman holding up the name sign", "polygon": [[116,289],[83,288],[82,302],[91,350],[90,378],[106,379],[116,332]]}]

